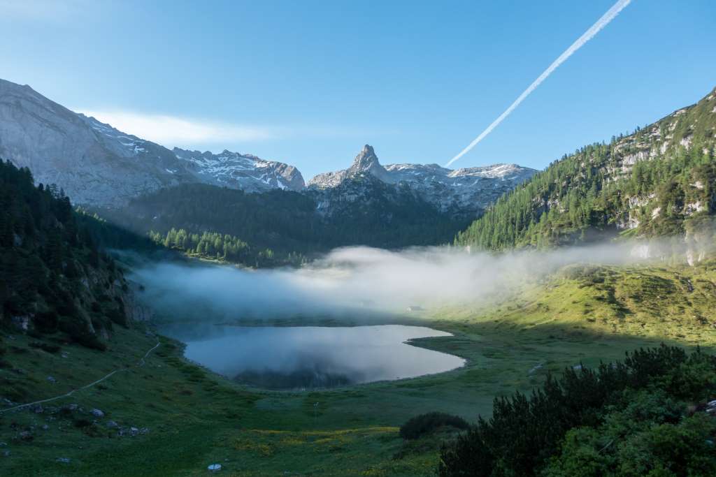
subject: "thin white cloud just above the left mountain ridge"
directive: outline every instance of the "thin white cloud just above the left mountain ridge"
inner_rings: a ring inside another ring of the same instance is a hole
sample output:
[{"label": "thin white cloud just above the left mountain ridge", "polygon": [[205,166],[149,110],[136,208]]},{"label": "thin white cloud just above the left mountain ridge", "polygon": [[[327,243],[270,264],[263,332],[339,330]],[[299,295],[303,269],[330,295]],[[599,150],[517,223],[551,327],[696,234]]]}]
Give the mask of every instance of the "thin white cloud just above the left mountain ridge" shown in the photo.
[{"label": "thin white cloud just above the left mountain ridge", "polygon": [[145,114],[123,111],[88,111],[82,114],[95,117],[122,132],[134,134],[164,146],[196,147],[201,144],[236,144],[238,142],[279,139],[277,128],[203,121],[168,114]]}]

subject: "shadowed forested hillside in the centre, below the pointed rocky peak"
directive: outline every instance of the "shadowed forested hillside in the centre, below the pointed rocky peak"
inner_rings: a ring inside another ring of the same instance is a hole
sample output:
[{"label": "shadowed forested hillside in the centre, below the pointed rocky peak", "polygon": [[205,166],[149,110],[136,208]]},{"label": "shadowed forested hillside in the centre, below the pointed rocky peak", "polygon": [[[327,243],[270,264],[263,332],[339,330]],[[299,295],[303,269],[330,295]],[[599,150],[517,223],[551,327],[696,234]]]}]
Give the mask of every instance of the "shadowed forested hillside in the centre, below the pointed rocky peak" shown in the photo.
[{"label": "shadowed forested hillside in the centre, below the pointed rocky peak", "polygon": [[[324,213],[321,206],[328,201],[332,212]],[[343,245],[435,245],[449,242],[467,225],[438,212],[408,187],[367,175],[309,194],[183,185],[101,214],[142,235],[151,233],[168,247],[248,265],[296,262]]]}]

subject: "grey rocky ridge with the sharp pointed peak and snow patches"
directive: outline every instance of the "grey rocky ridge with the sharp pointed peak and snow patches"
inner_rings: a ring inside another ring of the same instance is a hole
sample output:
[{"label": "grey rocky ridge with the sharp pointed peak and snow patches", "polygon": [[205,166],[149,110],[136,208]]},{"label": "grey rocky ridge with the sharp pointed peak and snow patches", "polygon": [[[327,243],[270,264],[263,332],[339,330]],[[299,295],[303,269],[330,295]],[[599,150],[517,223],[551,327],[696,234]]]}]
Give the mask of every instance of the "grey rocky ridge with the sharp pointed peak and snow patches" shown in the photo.
[{"label": "grey rocky ridge with the sharp pointed peak and snow patches", "polygon": [[383,167],[372,147],[365,145],[348,169],[318,174],[308,187],[326,190],[361,174],[387,184],[407,185],[441,212],[476,215],[500,195],[532,177],[537,171],[516,164],[447,169],[437,164],[389,164]]}]

